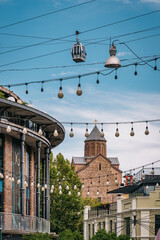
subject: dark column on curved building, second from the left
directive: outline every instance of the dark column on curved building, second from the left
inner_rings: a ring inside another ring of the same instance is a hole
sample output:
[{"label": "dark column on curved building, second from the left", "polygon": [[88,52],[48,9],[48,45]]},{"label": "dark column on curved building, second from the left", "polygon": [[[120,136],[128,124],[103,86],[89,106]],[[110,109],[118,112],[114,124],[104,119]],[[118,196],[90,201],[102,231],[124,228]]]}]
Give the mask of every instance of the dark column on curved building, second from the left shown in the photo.
[{"label": "dark column on curved building, second from the left", "polygon": [[[37,142],[37,184],[40,184],[40,150],[41,142]],[[36,210],[37,217],[40,218],[40,188],[37,187],[37,198],[36,198]]]}]

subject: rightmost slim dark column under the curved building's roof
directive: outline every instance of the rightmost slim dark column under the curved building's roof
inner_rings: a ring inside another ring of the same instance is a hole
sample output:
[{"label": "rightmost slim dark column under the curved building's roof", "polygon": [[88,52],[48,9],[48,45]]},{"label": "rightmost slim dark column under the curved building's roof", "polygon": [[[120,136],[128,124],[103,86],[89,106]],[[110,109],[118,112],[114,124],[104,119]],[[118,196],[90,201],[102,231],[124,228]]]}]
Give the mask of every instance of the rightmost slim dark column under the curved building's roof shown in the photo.
[{"label": "rightmost slim dark column under the curved building's roof", "polygon": [[49,220],[49,148],[46,148],[45,184],[47,184],[47,189],[45,189],[45,219]]}]

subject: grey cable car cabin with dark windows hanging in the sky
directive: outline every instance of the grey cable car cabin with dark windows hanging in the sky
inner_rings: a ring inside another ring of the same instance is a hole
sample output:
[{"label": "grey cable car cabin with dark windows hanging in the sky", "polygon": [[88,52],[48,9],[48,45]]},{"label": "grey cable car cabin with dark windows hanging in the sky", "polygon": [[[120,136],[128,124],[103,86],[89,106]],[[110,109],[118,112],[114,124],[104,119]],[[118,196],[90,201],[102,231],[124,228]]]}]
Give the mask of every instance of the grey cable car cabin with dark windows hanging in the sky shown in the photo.
[{"label": "grey cable car cabin with dark windows hanging in the sky", "polygon": [[72,47],[72,59],[75,62],[85,62],[86,60],[86,50],[82,43],[73,44]]}]

